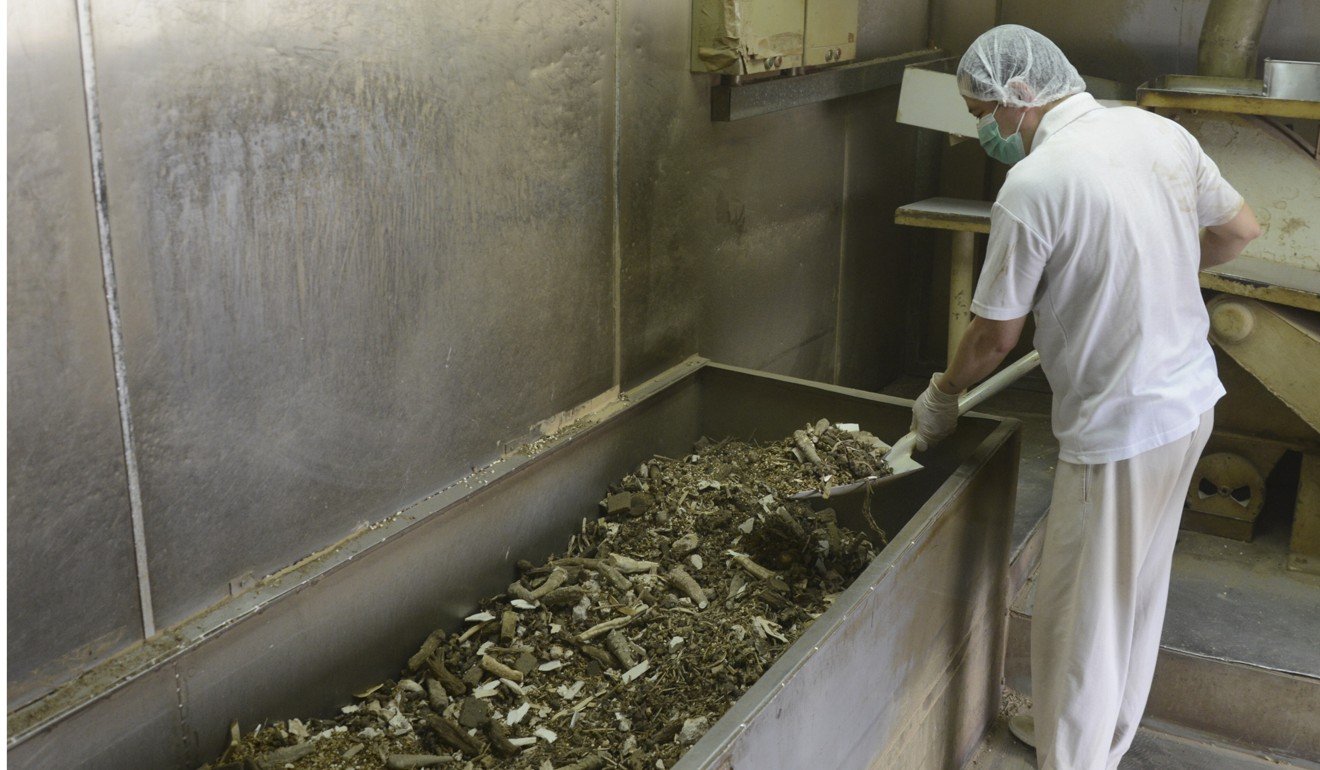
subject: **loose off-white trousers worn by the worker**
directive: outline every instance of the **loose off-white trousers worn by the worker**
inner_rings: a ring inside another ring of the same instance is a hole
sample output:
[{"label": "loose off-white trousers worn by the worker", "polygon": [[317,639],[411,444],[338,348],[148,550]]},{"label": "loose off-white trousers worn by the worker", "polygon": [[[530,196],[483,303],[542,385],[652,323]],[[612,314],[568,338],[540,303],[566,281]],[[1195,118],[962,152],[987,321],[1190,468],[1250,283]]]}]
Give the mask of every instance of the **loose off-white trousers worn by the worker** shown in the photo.
[{"label": "loose off-white trousers worn by the worker", "polygon": [[1059,462],[1031,622],[1041,770],[1113,770],[1155,675],[1173,544],[1214,424],[1101,465]]}]

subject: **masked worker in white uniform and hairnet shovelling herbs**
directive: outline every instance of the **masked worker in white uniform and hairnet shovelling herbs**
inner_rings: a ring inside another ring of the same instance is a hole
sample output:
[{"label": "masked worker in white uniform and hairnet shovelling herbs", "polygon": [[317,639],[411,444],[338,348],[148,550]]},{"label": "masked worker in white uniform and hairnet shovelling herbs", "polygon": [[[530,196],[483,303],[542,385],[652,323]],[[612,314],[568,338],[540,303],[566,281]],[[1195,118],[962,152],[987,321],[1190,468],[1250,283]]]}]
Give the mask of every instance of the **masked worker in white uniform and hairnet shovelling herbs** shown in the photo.
[{"label": "masked worker in white uniform and hairnet shovelling herbs", "polygon": [[998,367],[1031,313],[1059,465],[1032,716],[1011,726],[1041,769],[1114,769],[1146,708],[1183,499],[1224,395],[1197,271],[1237,256],[1259,226],[1185,129],[1098,104],[1034,30],[977,38],[958,88],[986,152],[1012,168],[975,318],[913,407],[917,448],[953,431],[958,394]]}]

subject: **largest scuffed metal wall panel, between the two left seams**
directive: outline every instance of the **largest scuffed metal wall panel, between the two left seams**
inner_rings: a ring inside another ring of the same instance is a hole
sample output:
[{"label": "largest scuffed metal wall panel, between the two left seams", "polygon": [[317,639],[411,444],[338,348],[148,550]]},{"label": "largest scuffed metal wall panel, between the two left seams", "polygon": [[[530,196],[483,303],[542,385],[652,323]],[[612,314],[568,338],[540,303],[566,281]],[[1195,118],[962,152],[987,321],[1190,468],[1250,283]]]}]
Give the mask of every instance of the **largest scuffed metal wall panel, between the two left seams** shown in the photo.
[{"label": "largest scuffed metal wall panel, between the two left seams", "polygon": [[611,9],[94,3],[160,625],[614,383]]}]

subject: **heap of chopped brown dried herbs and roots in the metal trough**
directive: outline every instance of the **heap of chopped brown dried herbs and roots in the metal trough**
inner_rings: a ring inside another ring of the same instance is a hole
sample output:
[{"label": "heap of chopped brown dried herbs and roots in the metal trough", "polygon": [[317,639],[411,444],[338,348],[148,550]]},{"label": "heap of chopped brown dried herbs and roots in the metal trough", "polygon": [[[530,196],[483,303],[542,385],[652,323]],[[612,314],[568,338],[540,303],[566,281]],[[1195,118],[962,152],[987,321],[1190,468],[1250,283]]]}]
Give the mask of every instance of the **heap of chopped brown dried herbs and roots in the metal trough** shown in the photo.
[{"label": "heap of chopped brown dried herbs and roots in the metal trough", "polygon": [[883,547],[789,499],[888,473],[888,446],[843,428],[653,457],[396,682],[334,718],[235,726],[206,767],[671,767]]}]

